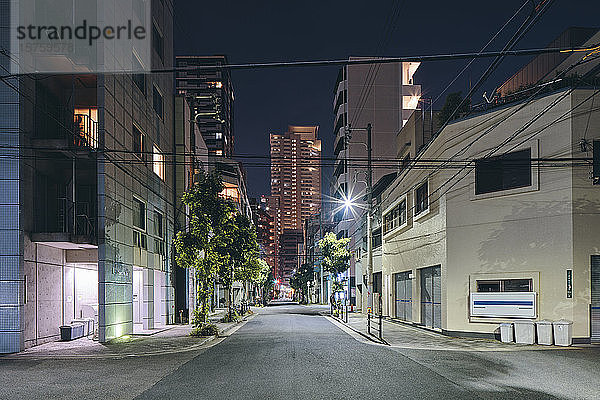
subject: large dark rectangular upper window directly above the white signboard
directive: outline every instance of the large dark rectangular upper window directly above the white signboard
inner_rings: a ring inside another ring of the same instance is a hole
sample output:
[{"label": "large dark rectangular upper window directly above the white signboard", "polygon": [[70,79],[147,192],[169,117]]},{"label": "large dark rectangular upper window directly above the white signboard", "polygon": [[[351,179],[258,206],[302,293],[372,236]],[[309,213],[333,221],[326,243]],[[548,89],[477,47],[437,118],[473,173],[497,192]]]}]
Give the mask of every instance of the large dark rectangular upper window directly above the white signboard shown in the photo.
[{"label": "large dark rectangular upper window directly above the white signboard", "polygon": [[531,149],[475,160],[475,194],[531,186]]}]

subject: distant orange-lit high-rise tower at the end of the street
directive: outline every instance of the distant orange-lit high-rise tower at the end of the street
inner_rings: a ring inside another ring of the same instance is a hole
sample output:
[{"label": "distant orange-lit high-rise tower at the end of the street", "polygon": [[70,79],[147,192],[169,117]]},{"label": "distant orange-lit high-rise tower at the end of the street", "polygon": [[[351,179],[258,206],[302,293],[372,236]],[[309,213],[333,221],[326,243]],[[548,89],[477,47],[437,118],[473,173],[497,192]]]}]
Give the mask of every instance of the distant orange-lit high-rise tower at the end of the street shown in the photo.
[{"label": "distant orange-lit high-rise tower at the end of the street", "polygon": [[289,126],[271,134],[271,204],[278,246],[278,277],[289,282],[298,265],[302,221],[321,207],[321,141],[318,126]]}]

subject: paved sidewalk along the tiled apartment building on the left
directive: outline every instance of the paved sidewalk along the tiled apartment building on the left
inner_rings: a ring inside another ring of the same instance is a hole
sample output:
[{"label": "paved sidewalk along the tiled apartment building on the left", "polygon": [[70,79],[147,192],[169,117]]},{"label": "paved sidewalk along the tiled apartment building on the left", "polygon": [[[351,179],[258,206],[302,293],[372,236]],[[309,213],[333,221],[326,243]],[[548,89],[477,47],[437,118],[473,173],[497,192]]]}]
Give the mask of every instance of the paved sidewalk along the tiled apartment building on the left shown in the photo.
[{"label": "paved sidewalk along the tiled apartment building on the left", "polygon": [[[166,325],[154,330],[143,331],[140,334],[126,335],[109,343],[99,343],[97,340],[92,340],[91,337],[68,342],[45,343],[30,347],[21,353],[0,356],[0,359],[124,358],[191,351],[201,348],[219,337],[228,336],[229,331],[253,317],[253,315],[246,315],[239,323],[219,322],[224,313],[225,310],[221,309],[209,316],[210,322],[219,328],[218,336],[192,337],[190,336],[192,325]],[[155,332],[153,333],[153,331]]]}]

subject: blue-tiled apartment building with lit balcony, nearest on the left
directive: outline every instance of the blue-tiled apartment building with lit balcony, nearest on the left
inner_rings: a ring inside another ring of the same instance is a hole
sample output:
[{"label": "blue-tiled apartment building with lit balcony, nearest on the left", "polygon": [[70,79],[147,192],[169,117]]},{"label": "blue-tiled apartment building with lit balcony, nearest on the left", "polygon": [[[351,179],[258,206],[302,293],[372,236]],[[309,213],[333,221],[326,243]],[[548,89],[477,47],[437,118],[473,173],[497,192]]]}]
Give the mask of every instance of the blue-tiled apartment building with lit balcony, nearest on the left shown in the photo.
[{"label": "blue-tiled apartment building with lit balcony, nearest on the left", "polygon": [[[151,67],[171,68],[173,3],[152,5]],[[0,83],[0,353],[81,318],[101,342],[173,322],[172,88],[170,73]]]}]

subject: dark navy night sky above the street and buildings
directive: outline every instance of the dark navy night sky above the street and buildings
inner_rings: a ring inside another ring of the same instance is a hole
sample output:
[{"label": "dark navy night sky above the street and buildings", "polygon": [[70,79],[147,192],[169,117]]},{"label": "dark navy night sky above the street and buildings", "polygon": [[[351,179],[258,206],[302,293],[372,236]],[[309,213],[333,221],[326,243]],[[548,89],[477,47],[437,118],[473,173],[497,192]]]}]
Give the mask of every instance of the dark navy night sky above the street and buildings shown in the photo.
[{"label": "dark navy night sky above the street and buildings", "polygon": [[[398,23],[386,32],[388,15],[397,3],[401,7]],[[522,4],[523,0],[176,0],[175,54],[225,54],[230,63],[250,63],[478,51]],[[529,10],[527,6],[488,50],[500,50]],[[544,47],[569,26],[598,27],[599,15],[600,1],[556,0],[517,48]],[[483,89],[491,92],[527,61],[523,57],[505,60]],[[450,91],[465,93],[469,80],[474,83],[490,62],[476,61]],[[466,63],[422,64],[415,81],[422,85],[425,97],[436,97]],[[288,124],[316,124],[320,125],[323,154],[331,156],[337,70],[234,71],[236,153],[268,157],[270,132],[281,133]],[[477,94],[474,102],[480,100]],[[269,160],[253,160],[257,161],[260,166],[246,166],[250,196],[270,192]],[[328,174],[323,173],[326,182]]]}]

